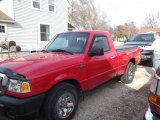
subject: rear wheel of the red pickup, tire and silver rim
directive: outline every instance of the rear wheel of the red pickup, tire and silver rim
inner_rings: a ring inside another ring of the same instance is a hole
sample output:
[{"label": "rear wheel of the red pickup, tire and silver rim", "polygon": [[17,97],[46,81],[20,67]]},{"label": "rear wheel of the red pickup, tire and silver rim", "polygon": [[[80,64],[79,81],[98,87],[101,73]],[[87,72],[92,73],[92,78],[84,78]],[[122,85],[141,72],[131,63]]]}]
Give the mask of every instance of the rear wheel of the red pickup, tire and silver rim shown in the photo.
[{"label": "rear wheel of the red pickup, tire and silver rim", "polygon": [[129,62],[125,73],[121,77],[121,82],[125,84],[132,83],[135,76],[136,66],[132,62]]}]

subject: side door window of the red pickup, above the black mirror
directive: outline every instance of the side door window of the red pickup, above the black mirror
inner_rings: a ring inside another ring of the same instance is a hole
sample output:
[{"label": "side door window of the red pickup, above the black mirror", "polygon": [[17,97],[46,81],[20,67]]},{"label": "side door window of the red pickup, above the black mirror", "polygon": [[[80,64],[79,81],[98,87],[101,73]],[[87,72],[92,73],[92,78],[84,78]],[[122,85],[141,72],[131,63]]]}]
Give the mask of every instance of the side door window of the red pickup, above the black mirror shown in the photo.
[{"label": "side door window of the red pickup, above the black mirror", "polygon": [[106,36],[96,36],[95,39],[93,40],[93,44],[91,48],[95,46],[99,48],[103,48],[104,52],[107,52],[110,50]]}]

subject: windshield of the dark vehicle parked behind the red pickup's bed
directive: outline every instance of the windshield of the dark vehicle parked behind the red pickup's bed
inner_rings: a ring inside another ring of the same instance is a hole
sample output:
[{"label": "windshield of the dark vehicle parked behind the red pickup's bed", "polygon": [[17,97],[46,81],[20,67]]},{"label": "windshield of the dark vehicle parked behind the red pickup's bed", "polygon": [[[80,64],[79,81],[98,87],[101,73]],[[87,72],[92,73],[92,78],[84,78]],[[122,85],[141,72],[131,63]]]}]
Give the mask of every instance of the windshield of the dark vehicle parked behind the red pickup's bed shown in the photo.
[{"label": "windshield of the dark vehicle parked behind the red pickup's bed", "polygon": [[129,39],[128,42],[153,42],[154,40],[154,34],[137,34]]}]

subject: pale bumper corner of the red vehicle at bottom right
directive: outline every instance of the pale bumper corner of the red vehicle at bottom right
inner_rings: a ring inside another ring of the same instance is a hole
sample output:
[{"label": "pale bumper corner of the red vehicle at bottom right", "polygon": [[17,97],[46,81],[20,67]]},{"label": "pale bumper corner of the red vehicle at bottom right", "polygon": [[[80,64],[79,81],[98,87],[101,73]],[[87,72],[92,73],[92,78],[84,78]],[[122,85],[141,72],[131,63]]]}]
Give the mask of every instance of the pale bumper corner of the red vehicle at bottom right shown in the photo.
[{"label": "pale bumper corner of the red vehicle at bottom right", "polygon": [[160,120],[160,117],[156,113],[151,112],[149,107],[145,113],[145,120]]}]

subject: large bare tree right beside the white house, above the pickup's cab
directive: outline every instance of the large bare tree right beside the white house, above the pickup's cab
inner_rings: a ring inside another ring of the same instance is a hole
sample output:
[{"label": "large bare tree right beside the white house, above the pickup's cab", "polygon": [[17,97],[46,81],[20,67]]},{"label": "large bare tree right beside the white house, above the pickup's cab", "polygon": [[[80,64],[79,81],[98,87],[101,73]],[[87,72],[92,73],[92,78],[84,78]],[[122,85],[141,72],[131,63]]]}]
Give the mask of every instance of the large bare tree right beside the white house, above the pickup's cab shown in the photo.
[{"label": "large bare tree right beside the white house, above the pickup's cab", "polygon": [[110,29],[106,14],[97,10],[93,0],[73,0],[69,20],[79,29]]}]

